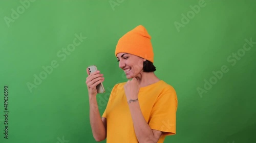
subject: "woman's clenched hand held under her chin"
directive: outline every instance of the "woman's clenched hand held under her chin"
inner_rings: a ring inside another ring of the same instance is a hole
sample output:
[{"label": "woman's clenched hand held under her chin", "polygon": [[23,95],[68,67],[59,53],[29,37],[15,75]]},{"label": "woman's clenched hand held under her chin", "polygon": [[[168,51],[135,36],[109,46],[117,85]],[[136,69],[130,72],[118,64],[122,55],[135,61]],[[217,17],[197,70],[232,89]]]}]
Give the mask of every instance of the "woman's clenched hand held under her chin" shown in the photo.
[{"label": "woman's clenched hand held under her chin", "polygon": [[132,80],[128,80],[124,85],[124,91],[125,91],[127,101],[137,99],[139,90],[140,90],[140,81],[138,77],[134,77]]}]

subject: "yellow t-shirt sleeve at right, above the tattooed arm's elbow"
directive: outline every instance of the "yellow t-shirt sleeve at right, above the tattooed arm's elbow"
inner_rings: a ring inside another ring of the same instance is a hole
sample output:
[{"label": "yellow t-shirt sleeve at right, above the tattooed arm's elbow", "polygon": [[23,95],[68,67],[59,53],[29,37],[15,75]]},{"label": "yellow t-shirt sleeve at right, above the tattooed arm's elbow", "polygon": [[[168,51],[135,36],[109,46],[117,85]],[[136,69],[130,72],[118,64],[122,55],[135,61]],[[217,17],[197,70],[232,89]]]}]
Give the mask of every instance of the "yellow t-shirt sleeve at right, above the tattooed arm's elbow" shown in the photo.
[{"label": "yellow t-shirt sleeve at right, above the tattooed arm's elbow", "polygon": [[158,96],[152,108],[148,125],[151,129],[166,132],[163,135],[176,134],[177,107],[176,91],[173,87],[170,87]]}]

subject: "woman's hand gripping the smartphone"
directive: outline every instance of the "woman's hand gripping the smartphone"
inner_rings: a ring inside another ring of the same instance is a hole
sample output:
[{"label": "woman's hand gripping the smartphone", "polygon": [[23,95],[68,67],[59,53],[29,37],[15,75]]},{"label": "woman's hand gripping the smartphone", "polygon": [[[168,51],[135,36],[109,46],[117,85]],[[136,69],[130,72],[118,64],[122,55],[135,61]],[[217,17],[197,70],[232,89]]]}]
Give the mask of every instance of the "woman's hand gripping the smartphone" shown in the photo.
[{"label": "woman's hand gripping the smartphone", "polygon": [[88,77],[86,78],[86,84],[87,84],[89,96],[96,96],[97,95],[96,86],[99,83],[104,81],[104,77],[102,77],[103,74],[100,74],[99,71],[96,71],[90,74],[88,68],[87,68],[87,74],[88,74]]}]

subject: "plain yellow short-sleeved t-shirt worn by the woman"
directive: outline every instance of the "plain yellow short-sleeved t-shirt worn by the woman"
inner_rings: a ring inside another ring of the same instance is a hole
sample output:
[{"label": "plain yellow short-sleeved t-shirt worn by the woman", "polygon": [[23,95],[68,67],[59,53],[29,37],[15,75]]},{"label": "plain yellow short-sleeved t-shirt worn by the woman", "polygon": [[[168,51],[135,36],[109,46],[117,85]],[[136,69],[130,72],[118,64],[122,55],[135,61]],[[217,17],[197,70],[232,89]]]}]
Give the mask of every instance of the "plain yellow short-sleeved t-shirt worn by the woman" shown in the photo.
[{"label": "plain yellow short-sleeved t-shirt worn by the woman", "polygon": [[[125,83],[118,83],[114,86],[102,115],[106,118],[106,142],[138,142],[123,88]],[[176,134],[178,100],[171,85],[160,80],[142,87],[138,99],[143,117],[151,129],[167,132],[160,137],[158,143],[162,143],[166,135]]]}]

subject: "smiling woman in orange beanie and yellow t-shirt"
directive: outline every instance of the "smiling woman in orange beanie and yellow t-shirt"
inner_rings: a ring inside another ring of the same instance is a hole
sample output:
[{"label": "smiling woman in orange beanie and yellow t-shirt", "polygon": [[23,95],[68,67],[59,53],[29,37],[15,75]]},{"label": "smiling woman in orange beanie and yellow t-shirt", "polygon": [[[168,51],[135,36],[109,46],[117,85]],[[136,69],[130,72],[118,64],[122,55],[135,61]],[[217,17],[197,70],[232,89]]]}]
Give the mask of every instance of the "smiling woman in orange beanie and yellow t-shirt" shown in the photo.
[{"label": "smiling woman in orange beanie and yellow t-shirt", "polygon": [[119,68],[131,80],[114,86],[102,118],[96,85],[103,82],[104,77],[99,71],[89,75],[87,69],[90,123],[95,140],[163,142],[166,135],[176,134],[176,92],[154,73],[151,36],[145,27],[139,25],[122,36],[115,55]]}]

